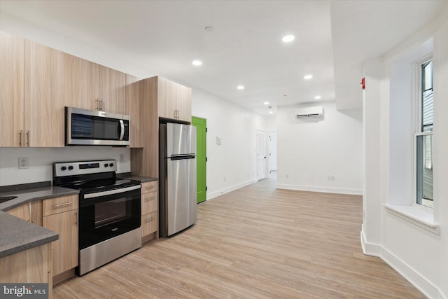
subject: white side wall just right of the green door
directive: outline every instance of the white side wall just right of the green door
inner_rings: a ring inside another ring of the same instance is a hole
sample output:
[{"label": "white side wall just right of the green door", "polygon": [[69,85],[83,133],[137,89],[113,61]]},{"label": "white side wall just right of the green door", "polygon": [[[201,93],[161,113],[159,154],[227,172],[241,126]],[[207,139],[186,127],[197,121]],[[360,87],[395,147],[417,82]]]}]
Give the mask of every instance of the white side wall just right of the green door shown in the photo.
[{"label": "white side wall just right of the green door", "polygon": [[197,88],[192,115],[207,119],[207,199],[257,181],[257,130],[275,130],[269,117]]}]

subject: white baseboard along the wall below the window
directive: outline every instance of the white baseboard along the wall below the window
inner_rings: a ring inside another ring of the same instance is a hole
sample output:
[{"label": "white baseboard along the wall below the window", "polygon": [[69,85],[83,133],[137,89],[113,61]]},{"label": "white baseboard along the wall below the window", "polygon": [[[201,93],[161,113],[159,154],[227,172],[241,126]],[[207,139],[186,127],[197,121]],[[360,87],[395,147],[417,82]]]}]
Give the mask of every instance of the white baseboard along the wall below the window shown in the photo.
[{"label": "white baseboard along the wall below the window", "polygon": [[414,270],[411,266],[407,265],[404,261],[400,260],[398,256],[385,249],[379,244],[369,243],[365,239],[363,230],[360,233],[361,246],[363,246],[363,253],[367,256],[377,256],[384,260],[389,266],[404,277],[410,284],[415,286],[423,295],[428,298],[434,299],[448,299],[437,286],[428,281],[423,275]]}]

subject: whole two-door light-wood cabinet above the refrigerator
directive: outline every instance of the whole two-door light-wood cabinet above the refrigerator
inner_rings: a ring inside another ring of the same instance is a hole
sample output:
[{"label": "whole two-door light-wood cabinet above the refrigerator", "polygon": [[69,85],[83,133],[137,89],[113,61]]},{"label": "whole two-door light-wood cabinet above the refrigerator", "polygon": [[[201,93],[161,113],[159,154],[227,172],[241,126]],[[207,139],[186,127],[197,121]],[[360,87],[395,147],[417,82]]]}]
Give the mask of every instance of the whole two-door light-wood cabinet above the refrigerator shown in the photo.
[{"label": "whole two-door light-wood cabinet above the refrigerator", "polygon": [[191,89],[165,78],[157,77],[157,80],[159,116],[190,123]]}]

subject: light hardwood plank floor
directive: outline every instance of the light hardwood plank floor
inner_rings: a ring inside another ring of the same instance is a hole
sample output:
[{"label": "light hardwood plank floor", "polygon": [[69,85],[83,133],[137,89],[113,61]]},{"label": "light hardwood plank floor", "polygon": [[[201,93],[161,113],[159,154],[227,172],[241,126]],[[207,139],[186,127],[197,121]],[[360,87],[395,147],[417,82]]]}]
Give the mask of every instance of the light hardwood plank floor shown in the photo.
[{"label": "light hardwood plank floor", "polygon": [[362,199],[263,180],[195,226],[55,286],[55,298],[425,298],[360,246]]}]

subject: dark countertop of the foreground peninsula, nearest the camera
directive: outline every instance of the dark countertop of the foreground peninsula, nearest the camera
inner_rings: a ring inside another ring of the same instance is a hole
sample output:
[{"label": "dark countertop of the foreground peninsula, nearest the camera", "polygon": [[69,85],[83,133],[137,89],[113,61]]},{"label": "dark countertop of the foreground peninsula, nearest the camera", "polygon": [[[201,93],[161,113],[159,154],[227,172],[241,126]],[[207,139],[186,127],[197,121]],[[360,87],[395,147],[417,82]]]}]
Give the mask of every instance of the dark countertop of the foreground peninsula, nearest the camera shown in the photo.
[{"label": "dark countertop of the foreground peninsula, nearest the camera", "polygon": [[57,232],[0,211],[0,258],[57,239]]}]

